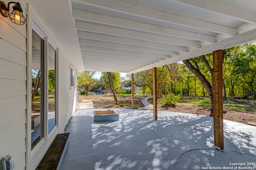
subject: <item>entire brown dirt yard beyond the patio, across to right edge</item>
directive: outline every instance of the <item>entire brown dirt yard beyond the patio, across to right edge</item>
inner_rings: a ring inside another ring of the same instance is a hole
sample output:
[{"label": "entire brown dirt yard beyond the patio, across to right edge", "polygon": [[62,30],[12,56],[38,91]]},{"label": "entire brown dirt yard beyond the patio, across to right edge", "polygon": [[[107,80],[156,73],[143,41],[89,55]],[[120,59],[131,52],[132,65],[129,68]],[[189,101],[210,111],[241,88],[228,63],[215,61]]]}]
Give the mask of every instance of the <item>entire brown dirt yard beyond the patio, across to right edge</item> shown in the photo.
[{"label": "entire brown dirt yard beyond the patio, across to right edge", "polygon": [[[135,108],[142,108],[144,105],[142,104],[142,99],[146,96],[134,96],[134,106]],[[89,96],[79,96],[79,101],[82,99],[91,99],[93,101],[94,108],[131,108],[131,96],[130,95],[118,95],[117,99],[119,105],[114,104],[114,98],[112,95],[89,95]],[[238,102],[238,103],[237,103]],[[152,103],[151,99],[149,99],[149,103]],[[246,103],[246,101],[228,101],[228,104],[233,104],[236,107],[241,103]],[[158,106],[161,106],[159,103]],[[171,111],[171,112],[182,112],[182,113],[191,113],[191,114],[199,114],[199,115],[210,115],[209,104],[198,104],[188,101],[178,101],[175,107],[159,107],[162,111]],[[246,107],[255,108],[256,105],[248,103]],[[245,107],[245,106],[243,106]],[[228,112],[223,115],[225,120],[244,123],[256,126],[256,112],[255,111],[241,111],[236,110],[234,108],[228,108]]]}]

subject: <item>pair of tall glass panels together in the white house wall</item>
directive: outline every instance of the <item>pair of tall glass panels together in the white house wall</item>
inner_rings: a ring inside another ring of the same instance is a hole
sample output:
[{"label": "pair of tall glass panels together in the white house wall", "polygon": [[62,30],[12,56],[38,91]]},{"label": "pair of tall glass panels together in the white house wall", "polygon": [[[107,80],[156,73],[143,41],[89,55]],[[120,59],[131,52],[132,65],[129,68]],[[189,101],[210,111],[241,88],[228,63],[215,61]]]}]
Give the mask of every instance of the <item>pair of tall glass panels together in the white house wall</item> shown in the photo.
[{"label": "pair of tall glass panels together in the white house wall", "polygon": [[32,31],[31,150],[57,125],[57,48],[39,32]]}]

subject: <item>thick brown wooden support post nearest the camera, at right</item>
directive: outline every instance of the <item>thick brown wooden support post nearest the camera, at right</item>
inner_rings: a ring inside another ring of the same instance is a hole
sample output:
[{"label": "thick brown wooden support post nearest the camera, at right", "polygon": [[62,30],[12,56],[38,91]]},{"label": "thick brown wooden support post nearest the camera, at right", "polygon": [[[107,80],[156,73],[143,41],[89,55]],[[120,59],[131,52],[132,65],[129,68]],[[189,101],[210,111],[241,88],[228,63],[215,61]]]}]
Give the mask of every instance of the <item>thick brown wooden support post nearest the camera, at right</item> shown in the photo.
[{"label": "thick brown wooden support post nearest the camera, at right", "polygon": [[222,88],[222,66],[223,50],[213,52],[213,126],[214,126],[214,146],[223,151],[223,88]]}]

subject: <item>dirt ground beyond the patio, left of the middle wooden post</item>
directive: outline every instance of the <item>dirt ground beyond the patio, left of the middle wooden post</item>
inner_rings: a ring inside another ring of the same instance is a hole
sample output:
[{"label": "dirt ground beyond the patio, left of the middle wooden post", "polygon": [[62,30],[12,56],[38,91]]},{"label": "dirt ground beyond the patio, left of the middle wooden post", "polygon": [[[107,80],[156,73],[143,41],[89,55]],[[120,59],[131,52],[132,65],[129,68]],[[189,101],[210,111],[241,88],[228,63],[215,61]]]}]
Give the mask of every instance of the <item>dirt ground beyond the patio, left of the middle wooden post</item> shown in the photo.
[{"label": "dirt ground beyond the patio, left of the middle wooden post", "polygon": [[[145,96],[134,96],[134,107],[142,108],[142,99]],[[115,105],[113,95],[89,95],[79,96],[79,101],[82,99],[91,99],[94,108],[131,108],[131,96],[130,95],[117,95],[119,105]]]}]

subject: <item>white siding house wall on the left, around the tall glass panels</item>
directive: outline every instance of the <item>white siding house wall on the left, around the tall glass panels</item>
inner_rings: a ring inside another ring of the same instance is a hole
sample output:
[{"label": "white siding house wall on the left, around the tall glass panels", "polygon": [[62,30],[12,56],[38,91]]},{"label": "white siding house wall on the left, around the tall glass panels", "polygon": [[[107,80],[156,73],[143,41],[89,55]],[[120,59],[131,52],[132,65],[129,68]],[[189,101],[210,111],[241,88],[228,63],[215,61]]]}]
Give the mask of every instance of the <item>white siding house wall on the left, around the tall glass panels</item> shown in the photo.
[{"label": "white siding house wall on the left, around the tall glass panels", "polygon": [[[8,3],[10,1],[4,0]],[[70,58],[58,46],[51,30],[26,0],[19,1],[23,14],[28,12],[28,25],[17,25],[0,15],[0,159],[7,154],[14,157],[14,169],[35,169],[58,133],[63,133],[75,111],[76,84],[70,88]],[[59,110],[57,128],[36,151],[30,150],[31,140],[31,18],[46,32],[59,48]],[[27,29],[28,28],[28,29]],[[76,77],[75,77],[76,82]]]}]

